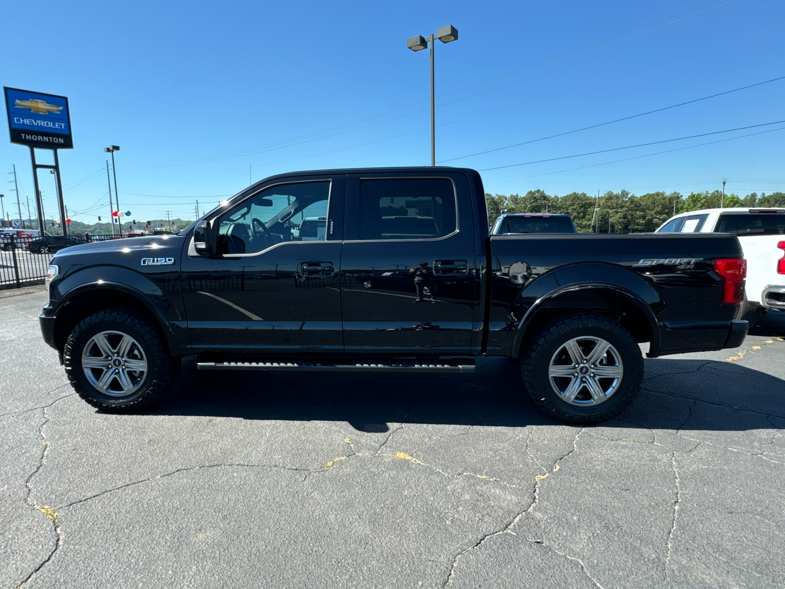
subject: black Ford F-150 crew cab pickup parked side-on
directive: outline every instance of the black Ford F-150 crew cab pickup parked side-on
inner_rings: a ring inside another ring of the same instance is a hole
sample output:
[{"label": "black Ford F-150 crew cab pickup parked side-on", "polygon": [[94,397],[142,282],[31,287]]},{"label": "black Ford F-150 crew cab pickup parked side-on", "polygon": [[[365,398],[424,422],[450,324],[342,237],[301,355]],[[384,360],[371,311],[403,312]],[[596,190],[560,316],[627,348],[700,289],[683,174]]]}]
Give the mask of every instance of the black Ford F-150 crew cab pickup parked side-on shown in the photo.
[{"label": "black Ford F-150 crew cab pickup parked side-on", "polygon": [[[480,174],[268,177],[172,236],[86,243],[49,268],[45,341],[72,386],[131,412],[199,370],[473,372],[520,361],[556,419],[622,412],[649,357],[736,347],[746,264],[717,233],[489,236]],[[488,375],[492,378],[492,375]]]}]

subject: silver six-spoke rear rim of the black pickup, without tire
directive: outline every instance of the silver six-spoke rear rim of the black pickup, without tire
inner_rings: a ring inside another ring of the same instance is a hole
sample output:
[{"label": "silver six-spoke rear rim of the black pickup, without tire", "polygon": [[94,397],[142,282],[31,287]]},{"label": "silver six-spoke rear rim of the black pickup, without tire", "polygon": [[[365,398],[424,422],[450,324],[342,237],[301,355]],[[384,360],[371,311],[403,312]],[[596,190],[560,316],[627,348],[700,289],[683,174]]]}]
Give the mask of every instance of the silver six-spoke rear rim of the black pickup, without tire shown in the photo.
[{"label": "silver six-spoke rear rim of the black pickup, without tire", "polygon": [[619,352],[601,338],[580,336],[564,342],[550,359],[550,386],[569,404],[586,406],[607,401],[622,382]]}]

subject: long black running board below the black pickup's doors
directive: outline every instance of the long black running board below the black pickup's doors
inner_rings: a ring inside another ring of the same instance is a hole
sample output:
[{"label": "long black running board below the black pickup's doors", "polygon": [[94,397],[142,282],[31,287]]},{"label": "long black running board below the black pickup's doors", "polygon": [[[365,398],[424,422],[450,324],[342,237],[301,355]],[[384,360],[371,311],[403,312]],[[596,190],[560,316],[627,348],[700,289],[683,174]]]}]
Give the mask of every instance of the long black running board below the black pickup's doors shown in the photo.
[{"label": "long black running board below the black pickup's doors", "polygon": [[438,360],[425,362],[417,360],[368,360],[351,364],[327,364],[313,360],[281,360],[279,362],[197,362],[199,370],[299,370],[331,372],[455,372],[474,374],[474,360]]}]

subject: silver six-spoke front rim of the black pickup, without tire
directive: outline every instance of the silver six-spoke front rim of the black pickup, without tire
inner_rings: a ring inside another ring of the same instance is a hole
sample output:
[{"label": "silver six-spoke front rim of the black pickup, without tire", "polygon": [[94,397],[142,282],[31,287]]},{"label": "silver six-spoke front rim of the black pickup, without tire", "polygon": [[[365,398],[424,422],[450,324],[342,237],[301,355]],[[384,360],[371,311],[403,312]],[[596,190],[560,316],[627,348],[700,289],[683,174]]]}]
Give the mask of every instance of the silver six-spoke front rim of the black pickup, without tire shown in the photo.
[{"label": "silver six-spoke front rim of the black pickup, without tire", "polygon": [[144,382],[148,366],[144,350],[130,335],[101,331],[82,350],[82,370],[101,393],[127,397]]}]

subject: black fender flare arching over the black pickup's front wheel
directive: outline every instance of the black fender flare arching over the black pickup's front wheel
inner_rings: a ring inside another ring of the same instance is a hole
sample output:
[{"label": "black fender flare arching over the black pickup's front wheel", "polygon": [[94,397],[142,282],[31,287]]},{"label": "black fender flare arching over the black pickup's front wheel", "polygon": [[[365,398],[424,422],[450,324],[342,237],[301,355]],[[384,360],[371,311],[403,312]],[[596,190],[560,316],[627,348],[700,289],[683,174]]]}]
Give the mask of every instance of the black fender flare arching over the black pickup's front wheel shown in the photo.
[{"label": "black fender flare arching over the black pickup's front wheel", "polygon": [[[152,297],[155,298],[163,298],[166,300],[166,295],[163,291],[157,287],[152,281],[148,280],[144,276],[141,276],[138,273],[115,268],[115,270],[120,270],[123,276],[112,276],[113,279],[129,279],[124,282],[115,282],[115,280],[104,280],[102,278],[93,278],[90,277],[89,282],[82,282],[85,280],[83,276],[83,272],[89,271],[89,269],[82,270],[82,272],[75,273],[68,278],[79,276],[79,285],[71,288],[70,290],[66,291],[60,297],[60,300],[57,301],[57,306],[53,309],[53,315],[57,317],[57,312],[68,302],[71,302],[74,298],[80,296],[89,291],[119,291],[123,294],[127,294],[130,297],[135,298],[138,302],[141,302],[142,305],[146,309],[152,313],[152,316],[155,317],[155,320],[158,321],[159,326],[161,327],[161,331],[163,332],[164,338],[166,338],[166,345],[169,347],[169,351],[173,356],[179,356],[180,352],[177,349],[177,342],[175,342],[174,334],[172,331],[172,327],[170,325],[170,321],[166,318],[166,315],[163,313],[162,309],[159,305],[156,305]],[[128,276],[125,276],[128,275]],[[63,281],[66,282],[68,280]],[[60,287],[63,286],[63,283],[60,283]],[[144,292],[141,288],[144,288]],[[152,297],[151,297],[152,295]],[[57,319],[55,320],[57,322]]]}]

